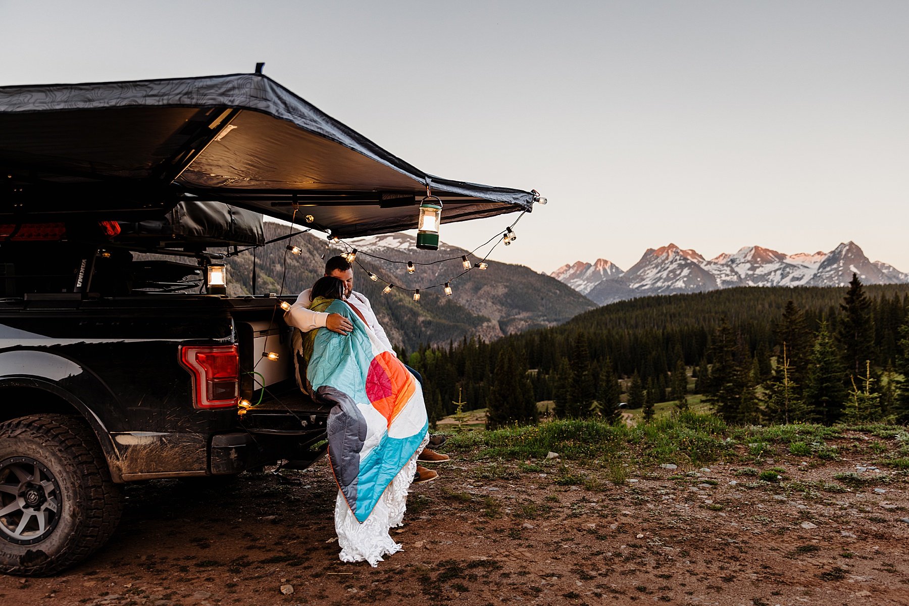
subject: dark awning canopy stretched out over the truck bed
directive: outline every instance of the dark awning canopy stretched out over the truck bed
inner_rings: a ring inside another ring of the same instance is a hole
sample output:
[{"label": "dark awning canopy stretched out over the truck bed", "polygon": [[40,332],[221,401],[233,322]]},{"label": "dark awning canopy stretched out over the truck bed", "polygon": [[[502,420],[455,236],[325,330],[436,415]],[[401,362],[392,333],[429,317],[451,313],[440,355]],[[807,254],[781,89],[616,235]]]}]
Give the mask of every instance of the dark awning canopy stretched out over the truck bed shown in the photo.
[{"label": "dark awning canopy stretched out over the truck bed", "polygon": [[0,220],[143,220],[216,201],[341,237],[531,210],[534,193],[441,179],[259,74],[0,87]]}]

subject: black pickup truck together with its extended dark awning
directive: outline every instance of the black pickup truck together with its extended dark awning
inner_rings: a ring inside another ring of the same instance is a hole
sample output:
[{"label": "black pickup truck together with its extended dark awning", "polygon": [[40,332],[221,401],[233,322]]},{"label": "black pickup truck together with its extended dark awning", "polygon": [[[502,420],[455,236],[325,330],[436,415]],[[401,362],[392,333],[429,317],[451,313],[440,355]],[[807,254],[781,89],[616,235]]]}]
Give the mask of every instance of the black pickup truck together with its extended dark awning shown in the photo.
[{"label": "black pickup truck together with its extended dark awning", "polygon": [[0,87],[0,572],[84,559],[125,482],[321,456],[288,298],[228,296],[223,258],[263,215],[387,233],[428,194],[444,223],[543,202],[425,174],[258,71]]}]

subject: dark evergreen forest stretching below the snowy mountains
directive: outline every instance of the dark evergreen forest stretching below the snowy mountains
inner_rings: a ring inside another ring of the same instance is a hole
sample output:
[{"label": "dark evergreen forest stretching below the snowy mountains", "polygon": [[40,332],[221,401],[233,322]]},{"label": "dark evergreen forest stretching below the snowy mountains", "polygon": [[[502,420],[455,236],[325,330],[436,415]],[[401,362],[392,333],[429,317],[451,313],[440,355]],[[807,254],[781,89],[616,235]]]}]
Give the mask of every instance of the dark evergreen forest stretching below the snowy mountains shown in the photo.
[{"label": "dark evergreen forest stretching below the snowy mountains", "polygon": [[489,428],[703,396],[733,424],[909,422],[909,284],[743,287],[613,303],[492,343],[399,351],[425,378],[433,421],[486,409]]}]

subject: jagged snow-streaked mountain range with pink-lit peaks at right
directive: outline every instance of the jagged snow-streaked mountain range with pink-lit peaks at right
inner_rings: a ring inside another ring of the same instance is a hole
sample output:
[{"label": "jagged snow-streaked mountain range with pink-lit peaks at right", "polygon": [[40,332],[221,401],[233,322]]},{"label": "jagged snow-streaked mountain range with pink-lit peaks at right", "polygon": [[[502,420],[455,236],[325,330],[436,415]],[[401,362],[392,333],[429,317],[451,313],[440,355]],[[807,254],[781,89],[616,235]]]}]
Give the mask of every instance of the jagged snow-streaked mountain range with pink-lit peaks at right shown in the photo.
[{"label": "jagged snow-streaked mountain range with pink-lit peaks at right", "polygon": [[735,286],[844,286],[857,273],[865,284],[909,283],[909,273],[870,261],[853,242],[829,253],[780,253],[746,246],[713,259],[669,244],[648,248],[640,261],[623,271],[597,259],[564,264],[551,275],[594,303],[605,305],[653,294],[703,293]]}]

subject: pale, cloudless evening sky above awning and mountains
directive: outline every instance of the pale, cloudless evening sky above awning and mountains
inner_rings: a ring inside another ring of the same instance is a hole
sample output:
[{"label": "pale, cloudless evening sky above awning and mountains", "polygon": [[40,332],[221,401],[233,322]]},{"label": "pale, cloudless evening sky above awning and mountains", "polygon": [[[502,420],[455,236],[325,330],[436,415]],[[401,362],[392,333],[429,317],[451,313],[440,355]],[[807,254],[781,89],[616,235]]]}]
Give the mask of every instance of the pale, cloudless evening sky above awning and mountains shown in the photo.
[{"label": "pale, cloudless evening sky above awning and mountains", "polygon": [[906,2],[0,0],[0,23],[0,85],[264,61],[426,172],[544,194],[494,253],[538,271],[853,240],[909,272]]}]

